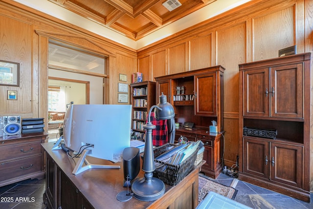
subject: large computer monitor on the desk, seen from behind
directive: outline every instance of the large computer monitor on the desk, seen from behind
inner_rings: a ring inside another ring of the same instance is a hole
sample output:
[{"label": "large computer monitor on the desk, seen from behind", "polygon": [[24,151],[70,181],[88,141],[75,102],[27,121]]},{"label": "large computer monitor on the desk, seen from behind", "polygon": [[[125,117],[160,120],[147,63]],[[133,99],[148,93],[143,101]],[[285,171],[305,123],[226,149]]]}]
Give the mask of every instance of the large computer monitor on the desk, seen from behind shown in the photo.
[{"label": "large computer monitor on the desk, seen from behind", "polygon": [[[65,146],[75,153],[88,146],[85,155],[112,162],[122,161],[124,148],[130,147],[131,112],[131,105],[71,104],[64,117]],[[86,163],[86,159],[82,160]]]}]

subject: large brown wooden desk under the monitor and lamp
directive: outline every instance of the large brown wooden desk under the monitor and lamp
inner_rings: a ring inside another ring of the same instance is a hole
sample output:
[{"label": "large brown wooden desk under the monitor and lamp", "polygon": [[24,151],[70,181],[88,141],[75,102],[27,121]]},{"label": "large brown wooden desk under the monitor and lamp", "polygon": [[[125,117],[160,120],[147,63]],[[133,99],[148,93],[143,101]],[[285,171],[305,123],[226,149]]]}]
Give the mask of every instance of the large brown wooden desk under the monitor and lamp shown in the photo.
[{"label": "large brown wooden desk under the monitor and lamp", "polygon": [[[127,190],[123,187],[122,163],[87,157],[90,163],[118,164],[120,169],[89,169],[73,175],[75,162],[63,150],[51,150],[53,142],[42,144],[46,154],[46,190],[44,201],[48,208],[66,209],[145,209],[171,208],[195,209],[198,205],[198,173],[200,163],[177,186],[165,185],[165,194],[152,202],[143,202],[134,197],[128,202],[116,200],[116,194]],[[140,171],[137,178],[143,177]]]}]

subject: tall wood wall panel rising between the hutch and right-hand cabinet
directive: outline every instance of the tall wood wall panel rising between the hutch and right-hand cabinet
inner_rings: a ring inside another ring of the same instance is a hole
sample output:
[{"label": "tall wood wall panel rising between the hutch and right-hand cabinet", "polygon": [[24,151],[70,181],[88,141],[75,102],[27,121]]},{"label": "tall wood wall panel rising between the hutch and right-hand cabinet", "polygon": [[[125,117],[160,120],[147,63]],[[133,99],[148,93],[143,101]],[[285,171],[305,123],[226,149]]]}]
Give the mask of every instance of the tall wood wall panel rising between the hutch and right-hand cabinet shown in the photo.
[{"label": "tall wood wall panel rising between the hutch and right-hand cabinet", "polygon": [[[246,62],[246,23],[232,24],[216,32],[217,63],[226,70],[224,73],[224,130],[226,166],[236,162],[239,152],[239,63]],[[229,50],[230,49],[230,50]],[[237,116],[237,118],[236,118]],[[231,117],[231,119],[227,118]]]}]

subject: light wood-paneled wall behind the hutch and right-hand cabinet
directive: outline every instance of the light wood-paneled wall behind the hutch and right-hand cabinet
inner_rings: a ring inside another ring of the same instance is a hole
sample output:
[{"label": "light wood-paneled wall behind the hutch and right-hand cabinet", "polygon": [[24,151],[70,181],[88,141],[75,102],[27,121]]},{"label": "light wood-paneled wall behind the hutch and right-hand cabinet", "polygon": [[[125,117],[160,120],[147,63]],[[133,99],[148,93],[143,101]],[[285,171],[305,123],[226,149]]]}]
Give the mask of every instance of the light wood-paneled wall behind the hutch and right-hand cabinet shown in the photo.
[{"label": "light wood-paneled wall behind the hutch and right-hand cabinet", "polygon": [[[297,45],[297,53],[311,51],[313,28],[307,22],[312,23],[312,9],[312,0],[252,0],[175,36],[138,50],[138,60],[143,57],[146,60],[148,57],[151,58],[149,65],[145,63],[145,68],[149,67],[151,81],[155,81],[156,76],[215,65],[222,65],[226,69],[224,163],[232,166],[236,163],[237,155],[242,155],[238,148],[239,140],[242,139],[238,130],[238,65],[278,57],[279,49],[293,45]],[[156,56],[159,59],[154,59]],[[140,64],[138,62],[139,71],[143,68]],[[311,147],[312,144],[311,139]],[[311,173],[312,165],[313,163]],[[311,190],[313,190],[312,176]]]}]

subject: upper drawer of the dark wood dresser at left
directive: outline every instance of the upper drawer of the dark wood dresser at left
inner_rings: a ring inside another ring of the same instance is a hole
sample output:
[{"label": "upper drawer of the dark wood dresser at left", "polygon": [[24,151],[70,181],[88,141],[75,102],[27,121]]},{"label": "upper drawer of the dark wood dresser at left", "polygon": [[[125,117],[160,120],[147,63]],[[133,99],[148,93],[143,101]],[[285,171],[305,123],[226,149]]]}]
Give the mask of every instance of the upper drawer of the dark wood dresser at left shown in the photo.
[{"label": "upper drawer of the dark wood dresser at left", "polygon": [[41,153],[41,141],[25,142],[0,146],[0,162]]}]

